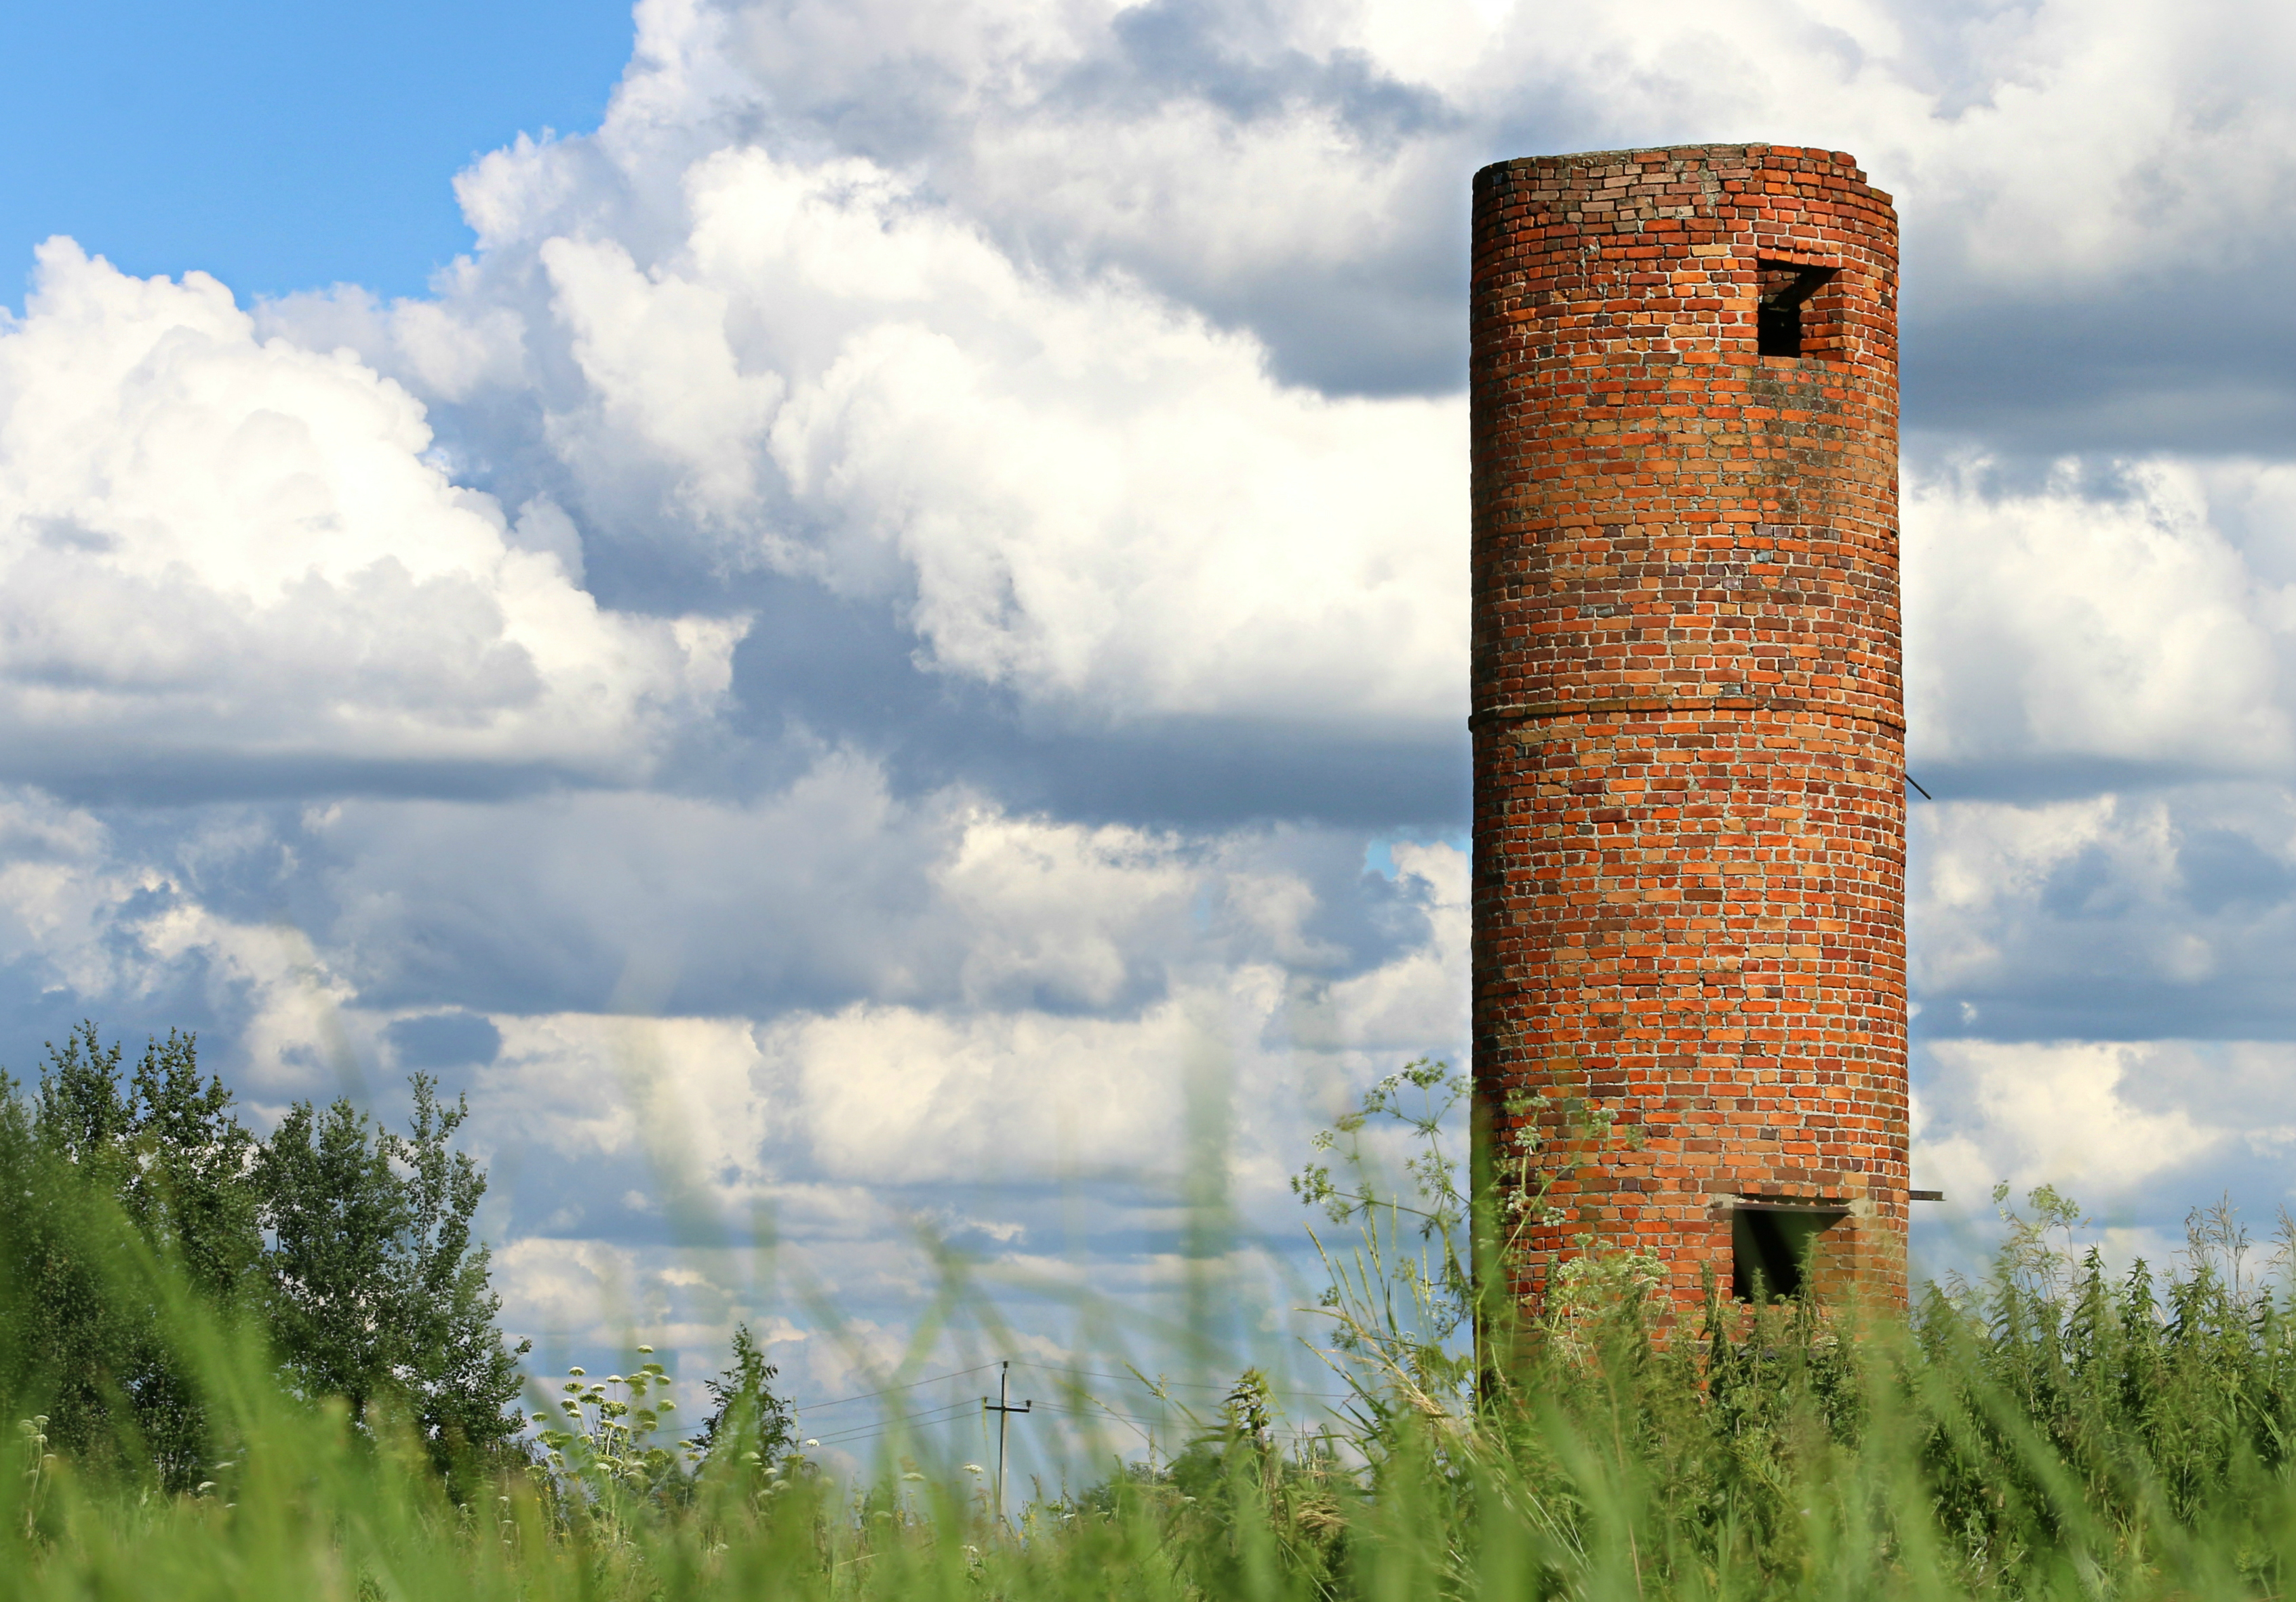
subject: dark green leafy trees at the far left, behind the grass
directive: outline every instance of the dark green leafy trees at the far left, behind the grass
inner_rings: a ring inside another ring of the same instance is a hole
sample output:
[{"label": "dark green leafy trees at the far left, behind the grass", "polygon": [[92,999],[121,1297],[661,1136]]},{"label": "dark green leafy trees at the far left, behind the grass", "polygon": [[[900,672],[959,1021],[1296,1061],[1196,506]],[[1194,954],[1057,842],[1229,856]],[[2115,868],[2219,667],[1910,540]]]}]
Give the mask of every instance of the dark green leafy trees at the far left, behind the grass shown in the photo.
[{"label": "dark green leafy trees at the far left, behind the grass", "polygon": [[344,1398],[358,1421],[381,1400],[434,1464],[505,1455],[517,1354],[471,1235],[487,1182],[450,1150],[464,1106],[416,1076],[406,1136],[338,1102],[294,1106],[259,1143],[230,1090],[200,1076],[191,1035],[122,1063],[83,1024],[48,1047],[30,1097],[0,1076],[0,1193],[14,1200],[0,1210],[0,1395],[39,1398],[37,1434],[80,1464],[193,1490],[225,1441],[179,1292],[276,1354],[298,1395]]}]

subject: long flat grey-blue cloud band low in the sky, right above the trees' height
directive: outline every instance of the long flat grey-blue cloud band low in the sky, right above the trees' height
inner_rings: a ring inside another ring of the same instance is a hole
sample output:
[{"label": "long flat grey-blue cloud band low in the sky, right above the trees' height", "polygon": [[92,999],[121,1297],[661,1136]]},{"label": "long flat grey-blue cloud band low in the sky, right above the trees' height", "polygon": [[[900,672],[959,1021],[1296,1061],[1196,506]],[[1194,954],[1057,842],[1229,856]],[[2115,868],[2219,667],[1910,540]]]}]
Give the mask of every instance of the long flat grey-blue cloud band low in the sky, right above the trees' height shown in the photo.
[{"label": "long flat grey-blue cloud band low in the sky, right above the trees' height", "polygon": [[1219,895],[1189,842],[889,794],[827,753],[751,803],[567,792],[305,819],[324,939],[381,1005],[1134,1005]]}]

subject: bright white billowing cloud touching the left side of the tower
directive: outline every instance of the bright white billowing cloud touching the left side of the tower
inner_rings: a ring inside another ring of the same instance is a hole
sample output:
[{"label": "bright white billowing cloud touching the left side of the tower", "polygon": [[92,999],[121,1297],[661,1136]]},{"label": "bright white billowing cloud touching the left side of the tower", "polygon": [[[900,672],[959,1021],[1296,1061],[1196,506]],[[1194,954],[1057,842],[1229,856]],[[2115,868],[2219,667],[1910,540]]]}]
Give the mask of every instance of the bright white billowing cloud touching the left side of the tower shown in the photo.
[{"label": "bright white billowing cloud touching the left side of the tower", "polygon": [[590,165],[489,158],[487,216],[519,232],[487,230],[471,289],[542,269],[526,342],[579,372],[544,388],[569,503],[882,599],[925,666],[1086,725],[1460,716],[1458,402],[1283,388],[1256,340],[1123,275],[1047,278],[863,158],[698,156],[682,239],[641,262],[581,234],[597,202],[563,174]]}]

